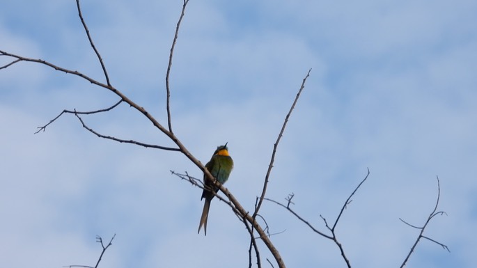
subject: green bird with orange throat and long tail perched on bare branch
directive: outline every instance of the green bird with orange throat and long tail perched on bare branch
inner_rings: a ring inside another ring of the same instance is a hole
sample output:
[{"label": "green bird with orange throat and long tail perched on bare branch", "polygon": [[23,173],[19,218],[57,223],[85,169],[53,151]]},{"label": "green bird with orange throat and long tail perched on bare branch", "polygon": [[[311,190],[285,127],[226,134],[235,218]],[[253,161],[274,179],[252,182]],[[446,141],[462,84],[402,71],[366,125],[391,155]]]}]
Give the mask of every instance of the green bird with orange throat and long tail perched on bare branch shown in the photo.
[{"label": "green bird with orange throat and long tail perched on bare branch", "polygon": [[[232,171],[233,168],[233,160],[232,157],[228,155],[227,143],[217,147],[210,161],[205,164],[205,168],[207,168],[210,174],[221,184],[224,184],[228,180],[228,175],[230,175],[230,171]],[[214,193],[217,192],[219,188],[214,187],[214,183],[209,180],[205,174],[204,184],[205,189],[202,192],[201,200],[205,198],[205,203],[197,233],[201,232],[201,228],[204,226],[204,235],[207,235],[207,219],[209,217],[210,201],[214,198]]]}]

